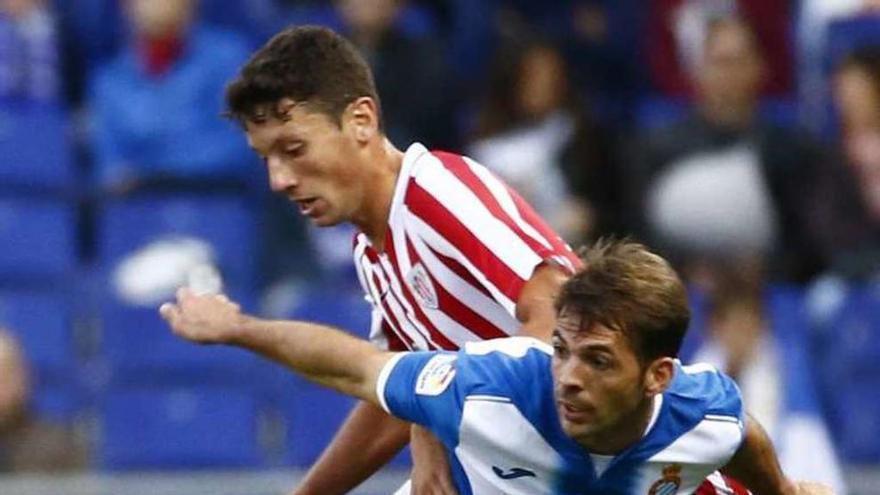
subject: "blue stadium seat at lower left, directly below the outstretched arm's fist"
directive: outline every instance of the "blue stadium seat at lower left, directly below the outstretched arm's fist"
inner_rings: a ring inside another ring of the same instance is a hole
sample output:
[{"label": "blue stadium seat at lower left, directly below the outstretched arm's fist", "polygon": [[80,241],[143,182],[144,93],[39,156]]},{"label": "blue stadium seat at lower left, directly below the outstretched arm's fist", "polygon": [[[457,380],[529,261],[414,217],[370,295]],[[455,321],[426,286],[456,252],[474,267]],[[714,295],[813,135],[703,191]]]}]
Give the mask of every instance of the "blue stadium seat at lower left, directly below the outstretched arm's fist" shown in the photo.
[{"label": "blue stadium seat at lower left, directly below the outstretched arm's fist", "polygon": [[110,391],[98,464],[108,470],[258,467],[259,410],[234,388]]}]

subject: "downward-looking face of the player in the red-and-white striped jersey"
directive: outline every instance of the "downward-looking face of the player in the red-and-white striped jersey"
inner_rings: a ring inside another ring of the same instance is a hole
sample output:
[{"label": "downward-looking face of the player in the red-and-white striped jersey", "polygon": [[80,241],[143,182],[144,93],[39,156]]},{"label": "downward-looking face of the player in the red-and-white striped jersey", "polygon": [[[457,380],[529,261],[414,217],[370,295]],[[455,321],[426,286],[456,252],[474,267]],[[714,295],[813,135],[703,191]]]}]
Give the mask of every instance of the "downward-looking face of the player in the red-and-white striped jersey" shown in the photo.
[{"label": "downward-looking face of the player in the red-and-white striped jersey", "polygon": [[248,143],[263,159],[269,185],[299,206],[315,225],[354,222],[368,198],[360,146],[343,118],[342,128],[326,114],[282,99],[260,122],[247,122]]}]

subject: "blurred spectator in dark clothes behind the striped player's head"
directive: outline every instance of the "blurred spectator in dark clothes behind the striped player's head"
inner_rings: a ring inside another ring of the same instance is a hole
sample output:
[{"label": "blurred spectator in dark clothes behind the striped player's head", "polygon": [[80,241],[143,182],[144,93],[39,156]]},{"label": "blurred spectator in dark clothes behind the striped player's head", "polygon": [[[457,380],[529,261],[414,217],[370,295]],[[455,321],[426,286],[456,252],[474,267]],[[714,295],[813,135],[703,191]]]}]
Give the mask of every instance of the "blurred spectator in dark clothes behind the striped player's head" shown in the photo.
[{"label": "blurred spectator in dark clothes behind the striped player's head", "polygon": [[396,23],[406,0],[337,0],[347,36],[373,69],[385,129],[394,143],[455,148],[454,88],[439,40],[405,34]]}]

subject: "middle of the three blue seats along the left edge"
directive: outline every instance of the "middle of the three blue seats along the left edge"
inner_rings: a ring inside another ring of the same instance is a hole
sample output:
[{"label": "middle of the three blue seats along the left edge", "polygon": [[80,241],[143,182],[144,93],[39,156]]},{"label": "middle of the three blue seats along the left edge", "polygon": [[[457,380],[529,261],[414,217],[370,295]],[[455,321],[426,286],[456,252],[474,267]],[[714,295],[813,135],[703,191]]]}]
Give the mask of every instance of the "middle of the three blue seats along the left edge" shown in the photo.
[{"label": "middle of the three blue seats along the left edge", "polygon": [[54,280],[76,265],[76,214],[61,201],[0,199],[0,280]]}]

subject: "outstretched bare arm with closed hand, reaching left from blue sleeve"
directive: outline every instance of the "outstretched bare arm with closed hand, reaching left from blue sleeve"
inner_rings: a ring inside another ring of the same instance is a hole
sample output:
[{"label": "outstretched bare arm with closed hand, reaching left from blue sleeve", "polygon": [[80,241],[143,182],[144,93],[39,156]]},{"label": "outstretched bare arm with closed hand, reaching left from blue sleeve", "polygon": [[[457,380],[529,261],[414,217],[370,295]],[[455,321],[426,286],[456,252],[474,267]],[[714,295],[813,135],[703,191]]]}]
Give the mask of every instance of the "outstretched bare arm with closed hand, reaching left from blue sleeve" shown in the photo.
[{"label": "outstretched bare arm with closed hand, reaching left from blue sleeve", "polygon": [[339,330],[302,321],[269,321],[241,313],[223,295],[179,289],[160,313],[174,333],[203,344],[231,344],[273,359],[305,378],[372,404],[376,382],[393,356]]}]

